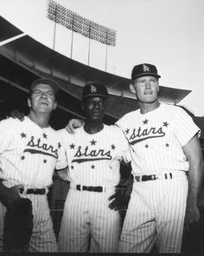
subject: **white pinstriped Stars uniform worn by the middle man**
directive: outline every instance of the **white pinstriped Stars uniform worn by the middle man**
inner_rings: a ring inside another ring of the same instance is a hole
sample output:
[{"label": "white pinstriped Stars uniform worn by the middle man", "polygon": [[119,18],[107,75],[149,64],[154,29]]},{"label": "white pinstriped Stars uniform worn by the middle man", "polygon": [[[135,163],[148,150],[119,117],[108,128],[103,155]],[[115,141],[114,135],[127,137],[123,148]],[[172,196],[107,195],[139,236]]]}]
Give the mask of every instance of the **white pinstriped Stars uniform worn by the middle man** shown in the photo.
[{"label": "white pinstriped Stars uniform worn by the middle man", "polygon": [[[75,135],[61,130],[66,142],[70,190],[64,207],[59,235],[59,250],[69,253],[87,251],[91,233],[92,253],[114,253],[118,248],[120,216],[111,210],[108,198],[120,180],[119,165],[128,142],[117,127],[104,125],[97,134],[84,127]],[[76,186],[103,187],[103,192],[79,191]]]}]

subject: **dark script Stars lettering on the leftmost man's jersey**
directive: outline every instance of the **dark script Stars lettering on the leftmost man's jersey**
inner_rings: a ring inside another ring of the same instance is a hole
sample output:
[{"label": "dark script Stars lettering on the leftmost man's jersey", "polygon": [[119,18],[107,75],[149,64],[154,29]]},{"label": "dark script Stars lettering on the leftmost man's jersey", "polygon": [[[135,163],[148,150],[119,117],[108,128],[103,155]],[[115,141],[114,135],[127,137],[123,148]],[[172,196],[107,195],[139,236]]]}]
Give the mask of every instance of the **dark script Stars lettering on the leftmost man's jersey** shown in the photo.
[{"label": "dark script Stars lettering on the leftmost man's jersey", "polygon": [[[53,146],[48,145],[47,143],[41,143],[41,139],[36,139],[34,136],[31,136],[31,139],[29,141],[29,143],[27,144],[27,146],[32,147],[32,148],[42,148],[45,151],[49,151],[49,155],[54,156],[54,158],[58,158],[58,149],[54,149]],[[26,148],[24,150],[24,152],[30,152],[30,153],[34,153],[34,151],[30,150],[29,148]],[[41,151],[37,151],[35,150],[35,153],[41,153]]]}]

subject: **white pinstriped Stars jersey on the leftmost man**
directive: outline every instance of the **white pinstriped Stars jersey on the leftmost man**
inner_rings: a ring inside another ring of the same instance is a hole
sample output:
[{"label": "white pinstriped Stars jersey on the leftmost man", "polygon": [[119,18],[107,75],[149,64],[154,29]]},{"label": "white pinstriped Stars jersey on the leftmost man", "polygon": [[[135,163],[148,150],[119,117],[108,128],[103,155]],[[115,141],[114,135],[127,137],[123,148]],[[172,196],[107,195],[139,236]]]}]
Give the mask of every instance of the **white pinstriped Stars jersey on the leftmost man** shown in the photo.
[{"label": "white pinstriped Stars jersey on the leftmost man", "polygon": [[54,167],[66,167],[61,137],[29,117],[0,122],[0,178],[13,185],[41,188],[52,184]]}]

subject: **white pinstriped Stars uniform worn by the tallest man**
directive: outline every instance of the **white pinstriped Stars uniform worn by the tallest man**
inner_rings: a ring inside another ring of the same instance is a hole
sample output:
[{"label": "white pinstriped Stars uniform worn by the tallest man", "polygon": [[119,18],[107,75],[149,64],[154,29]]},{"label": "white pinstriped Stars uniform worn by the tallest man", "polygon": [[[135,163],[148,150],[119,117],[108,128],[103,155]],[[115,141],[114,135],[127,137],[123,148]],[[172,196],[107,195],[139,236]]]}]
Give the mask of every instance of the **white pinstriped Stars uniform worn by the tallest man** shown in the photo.
[{"label": "white pinstriped Stars uniform worn by the tallest man", "polygon": [[[188,194],[188,161],[182,147],[200,131],[176,106],[161,104],[117,122],[131,144],[133,184],[121,233],[119,253],[149,253],[154,242],[160,253],[180,253]],[[155,181],[141,175],[158,174]],[[138,181],[138,182],[137,182]]]}]

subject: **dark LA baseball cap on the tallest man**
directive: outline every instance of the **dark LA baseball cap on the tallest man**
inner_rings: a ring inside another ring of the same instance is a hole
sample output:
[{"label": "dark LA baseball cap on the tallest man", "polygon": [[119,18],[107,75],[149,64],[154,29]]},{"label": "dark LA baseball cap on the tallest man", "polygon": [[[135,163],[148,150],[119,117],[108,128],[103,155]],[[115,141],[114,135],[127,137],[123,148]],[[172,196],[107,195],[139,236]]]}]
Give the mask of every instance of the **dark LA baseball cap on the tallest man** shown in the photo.
[{"label": "dark LA baseball cap on the tallest man", "polygon": [[153,75],[157,78],[160,78],[161,75],[158,75],[156,66],[143,63],[136,65],[131,72],[131,80],[136,79],[137,77],[144,76],[144,75]]}]

